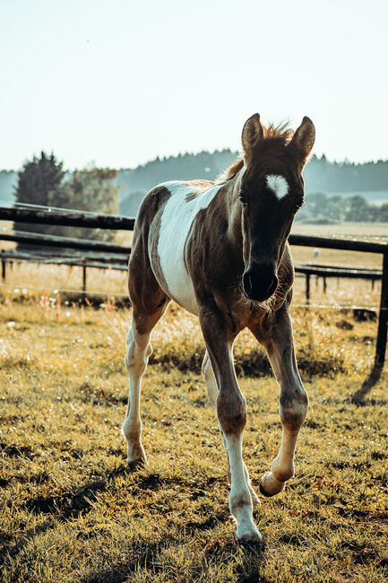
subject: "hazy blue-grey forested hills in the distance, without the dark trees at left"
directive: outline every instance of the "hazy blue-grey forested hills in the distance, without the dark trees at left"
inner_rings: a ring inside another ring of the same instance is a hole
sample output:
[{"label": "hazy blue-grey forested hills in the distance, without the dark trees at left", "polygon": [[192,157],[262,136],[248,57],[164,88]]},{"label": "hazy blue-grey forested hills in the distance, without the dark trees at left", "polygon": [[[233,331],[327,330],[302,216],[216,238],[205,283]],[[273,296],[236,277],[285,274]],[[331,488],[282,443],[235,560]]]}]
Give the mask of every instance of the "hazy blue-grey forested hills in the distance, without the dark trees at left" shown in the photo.
[{"label": "hazy blue-grey forested hills in the distance, without the dark trees at left", "polygon": [[[214,179],[236,158],[237,152],[230,150],[185,153],[157,158],[133,170],[118,170],[116,186],[119,187],[120,213],[135,215],[142,196],[160,182]],[[306,166],[304,175],[306,206],[298,213],[299,220],[388,221],[388,161],[331,162],[323,155]],[[16,172],[0,171],[0,199],[13,200],[16,182]],[[374,193],[379,193],[379,204],[376,204]]]}]

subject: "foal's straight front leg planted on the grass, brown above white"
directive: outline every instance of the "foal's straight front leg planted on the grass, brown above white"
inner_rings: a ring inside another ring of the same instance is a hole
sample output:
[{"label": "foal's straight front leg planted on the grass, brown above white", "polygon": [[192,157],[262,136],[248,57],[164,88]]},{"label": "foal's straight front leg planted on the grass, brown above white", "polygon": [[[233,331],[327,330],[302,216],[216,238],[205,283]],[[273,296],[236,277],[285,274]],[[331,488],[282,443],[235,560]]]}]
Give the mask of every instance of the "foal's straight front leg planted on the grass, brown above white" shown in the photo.
[{"label": "foal's straight front leg planted on the grass, brown above white", "polygon": [[[203,336],[211,360],[211,369],[217,382],[217,417],[220,422],[230,468],[229,509],[237,518],[237,538],[261,541],[254,525],[252,496],[246,479],[243,462],[243,431],[246,426],[246,399],[237,384],[232,360],[234,335],[228,332],[224,318],[216,308],[200,309]],[[215,396],[215,395],[214,395]]]}]

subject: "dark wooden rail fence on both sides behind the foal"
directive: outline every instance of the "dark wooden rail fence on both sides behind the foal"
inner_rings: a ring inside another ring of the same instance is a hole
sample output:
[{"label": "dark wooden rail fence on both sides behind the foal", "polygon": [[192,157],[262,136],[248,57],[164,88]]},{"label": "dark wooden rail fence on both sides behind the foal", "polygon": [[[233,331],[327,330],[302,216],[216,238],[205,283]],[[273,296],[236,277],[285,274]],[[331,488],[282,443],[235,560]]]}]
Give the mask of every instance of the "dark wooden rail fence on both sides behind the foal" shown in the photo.
[{"label": "dark wooden rail fence on both sides behind the foal", "polygon": [[[134,229],[134,218],[122,217],[117,215],[84,213],[82,211],[74,211],[73,209],[50,209],[46,207],[37,208],[13,208],[0,207],[0,221],[13,222],[30,222],[39,224],[52,225],[67,225],[73,227],[89,227],[99,229],[113,229],[132,231]],[[47,235],[28,234],[17,231],[2,232],[0,231],[0,239],[13,240],[19,242],[30,243],[34,245],[60,247],[60,248],[78,248],[82,250],[104,251],[108,254],[123,254],[128,257],[130,248],[125,248],[122,245],[114,245],[111,243],[102,243],[100,241],[90,241],[88,239],[72,239],[64,237],[54,237]],[[378,314],[377,339],[375,346],[375,362],[370,376],[364,382],[363,386],[353,396],[354,401],[360,402],[370,390],[375,382],[380,378],[381,372],[384,368],[386,344],[387,344],[387,328],[388,328],[388,243],[369,242],[358,239],[336,239],[311,237],[308,235],[290,235],[290,245],[297,245],[302,247],[314,248],[332,248],[349,251],[359,251],[364,253],[378,253],[383,256],[382,270],[380,272],[371,273],[369,270],[364,270],[367,273],[356,274],[355,270],[346,270],[344,268],[331,268],[316,265],[298,266],[296,271],[305,273],[308,278],[312,274],[319,274],[323,276],[322,269],[326,269],[324,276],[330,277],[364,277],[367,279],[381,278],[381,296],[380,309]],[[101,265],[106,265],[106,262],[98,262]],[[319,272],[319,273],[318,273]],[[307,287],[306,279],[306,287]],[[85,282],[86,284],[86,282]],[[309,287],[309,286],[308,286]]]}]

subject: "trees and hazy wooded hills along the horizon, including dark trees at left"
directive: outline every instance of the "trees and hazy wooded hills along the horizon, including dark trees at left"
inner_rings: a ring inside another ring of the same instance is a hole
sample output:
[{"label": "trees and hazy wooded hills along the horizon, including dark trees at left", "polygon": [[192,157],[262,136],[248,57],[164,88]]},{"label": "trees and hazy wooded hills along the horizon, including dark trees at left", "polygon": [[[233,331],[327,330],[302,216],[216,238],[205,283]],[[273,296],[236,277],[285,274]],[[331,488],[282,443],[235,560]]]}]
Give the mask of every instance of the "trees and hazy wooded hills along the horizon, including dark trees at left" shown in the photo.
[{"label": "trees and hazy wooded hills along the horizon, including dark trees at left", "polygon": [[[54,153],[41,152],[27,161],[18,172],[14,196],[17,203],[43,204],[63,208],[75,208],[99,213],[122,213],[134,216],[142,196],[154,185],[171,179],[216,178],[222,170],[236,160],[237,152],[222,150],[179,154],[137,167],[134,170],[91,168],[66,172],[63,162]],[[1,172],[10,182],[10,172]],[[329,162],[315,158],[305,170],[306,184],[315,184],[326,192],[388,189],[388,161],[354,164]],[[119,195],[128,193],[125,197]],[[308,191],[308,189],[307,189]],[[1,195],[0,195],[1,198]],[[307,194],[306,205],[297,213],[297,220],[304,222],[388,222],[386,204],[370,204],[361,195],[328,196],[324,192]],[[112,231],[18,223],[19,231],[48,233],[75,238],[111,240]]]}]

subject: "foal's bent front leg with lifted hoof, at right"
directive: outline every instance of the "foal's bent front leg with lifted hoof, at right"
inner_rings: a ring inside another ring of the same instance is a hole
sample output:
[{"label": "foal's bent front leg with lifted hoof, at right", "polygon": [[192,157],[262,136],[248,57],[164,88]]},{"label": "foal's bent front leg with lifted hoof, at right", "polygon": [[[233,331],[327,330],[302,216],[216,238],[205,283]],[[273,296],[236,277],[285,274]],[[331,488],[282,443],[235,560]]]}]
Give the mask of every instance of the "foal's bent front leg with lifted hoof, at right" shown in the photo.
[{"label": "foal's bent front leg with lifted hoof, at right", "polygon": [[[253,332],[256,335],[256,331]],[[280,384],[280,451],[272,462],[272,471],[263,475],[260,485],[264,496],[273,496],[281,492],[287,480],[294,475],[297,435],[306,418],[308,396],[297,370],[289,309],[283,307],[275,315],[269,335],[257,337],[267,350]]]}]

